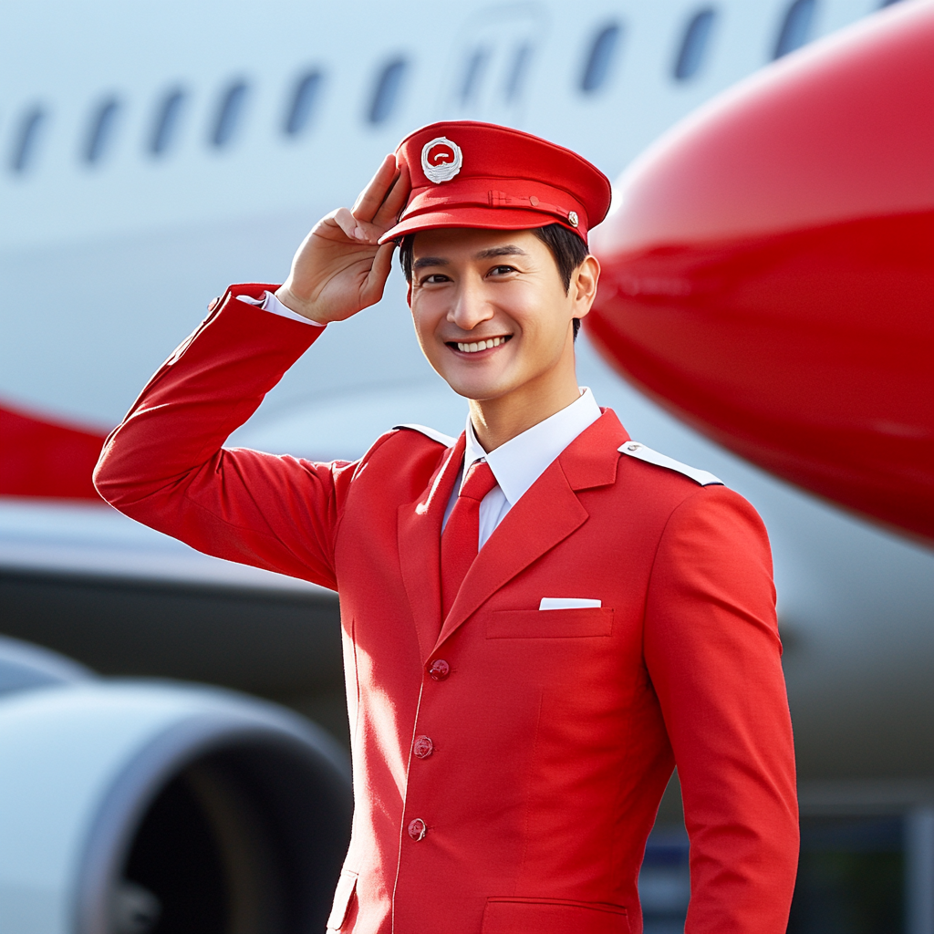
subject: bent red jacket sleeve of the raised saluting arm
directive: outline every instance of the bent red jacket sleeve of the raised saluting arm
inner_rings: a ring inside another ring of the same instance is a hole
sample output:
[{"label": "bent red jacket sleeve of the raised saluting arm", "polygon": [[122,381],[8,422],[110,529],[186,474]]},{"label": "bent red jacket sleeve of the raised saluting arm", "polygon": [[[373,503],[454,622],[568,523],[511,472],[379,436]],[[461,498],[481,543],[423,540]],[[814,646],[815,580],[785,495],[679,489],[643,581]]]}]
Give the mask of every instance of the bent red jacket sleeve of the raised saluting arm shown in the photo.
[{"label": "bent red jacket sleeve of the raised saluting arm", "polygon": [[232,286],[111,432],[94,472],[120,512],[188,545],[336,589],[333,538],[353,464],[223,443],[323,328],[237,301]]}]

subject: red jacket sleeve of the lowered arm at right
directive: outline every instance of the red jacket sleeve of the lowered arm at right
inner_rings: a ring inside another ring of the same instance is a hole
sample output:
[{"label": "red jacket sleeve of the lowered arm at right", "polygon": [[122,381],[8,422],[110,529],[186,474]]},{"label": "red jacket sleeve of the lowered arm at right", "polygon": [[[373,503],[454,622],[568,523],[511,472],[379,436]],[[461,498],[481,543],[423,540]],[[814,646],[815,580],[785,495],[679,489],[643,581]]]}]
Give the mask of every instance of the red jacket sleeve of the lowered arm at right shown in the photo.
[{"label": "red jacket sleeve of the lowered arm at right", "polygon": [[784,934],[798,868],[794,746],[769,539],[738,494],[701,488],[672,513],[644,646],[690,837],[686,934]]}]

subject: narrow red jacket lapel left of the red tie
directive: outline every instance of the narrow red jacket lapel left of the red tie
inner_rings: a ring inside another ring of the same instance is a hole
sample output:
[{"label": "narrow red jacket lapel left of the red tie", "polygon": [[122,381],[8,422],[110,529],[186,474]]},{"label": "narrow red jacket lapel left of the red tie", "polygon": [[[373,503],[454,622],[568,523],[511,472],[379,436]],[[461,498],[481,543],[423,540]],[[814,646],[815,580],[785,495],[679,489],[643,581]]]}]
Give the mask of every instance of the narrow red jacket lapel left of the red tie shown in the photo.
[{"label": "narrow red jacket lapel left of the red tie", "polygon": [[422,661],[431,653],[441,629],[441,523],[465,446],[461,434],[422,496],[399,507],[399,563]]}]

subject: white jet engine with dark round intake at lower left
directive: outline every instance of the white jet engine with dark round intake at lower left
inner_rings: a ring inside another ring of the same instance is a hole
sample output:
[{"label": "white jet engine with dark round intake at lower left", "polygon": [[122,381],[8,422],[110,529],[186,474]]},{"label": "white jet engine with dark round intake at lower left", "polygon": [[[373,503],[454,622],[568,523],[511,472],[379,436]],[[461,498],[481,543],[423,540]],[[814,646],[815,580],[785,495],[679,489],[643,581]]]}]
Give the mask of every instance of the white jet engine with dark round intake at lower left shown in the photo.
[{"label": "white jet engine with dark round intake at lower left", "polygon": [[350,815],[304,718],[0,639],[0,930],[319,932]]}]

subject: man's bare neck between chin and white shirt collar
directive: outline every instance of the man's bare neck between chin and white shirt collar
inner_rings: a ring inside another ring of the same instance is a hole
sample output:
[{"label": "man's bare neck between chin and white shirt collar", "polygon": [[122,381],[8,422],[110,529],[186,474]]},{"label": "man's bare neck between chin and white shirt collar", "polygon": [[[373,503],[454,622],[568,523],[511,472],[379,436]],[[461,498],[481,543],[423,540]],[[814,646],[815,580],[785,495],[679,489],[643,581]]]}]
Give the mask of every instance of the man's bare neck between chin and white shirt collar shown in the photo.
[{"label": "man's bare neck between chin and white shirt collar", "polygon": [[472,399],[470,417],[476,440],[485,451],[494,451],[579,398],[572,364],[570,371],[551,371],[497,399]]}]

